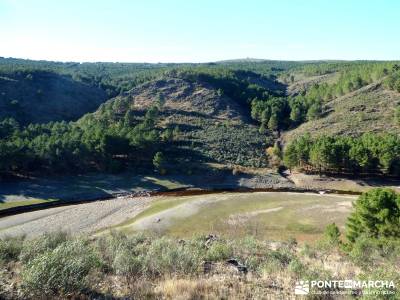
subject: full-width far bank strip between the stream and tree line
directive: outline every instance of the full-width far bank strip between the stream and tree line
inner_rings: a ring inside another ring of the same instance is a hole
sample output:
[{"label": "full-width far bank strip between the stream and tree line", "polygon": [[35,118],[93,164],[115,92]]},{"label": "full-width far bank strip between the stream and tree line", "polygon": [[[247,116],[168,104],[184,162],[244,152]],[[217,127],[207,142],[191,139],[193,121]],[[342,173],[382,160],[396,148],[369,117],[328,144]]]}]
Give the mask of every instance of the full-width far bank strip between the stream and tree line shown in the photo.
[{"label": "full-width far bank strip between the stream and tree line", "polygon": [[314,192],[358,195],[374,187],[400,192],[400,181],[306,175],[271,170],[233,174],[212,170],[194,175],[87,174],[1,182],[0,217],[118,198],[120,195],[185,196],[217,192]]}]

